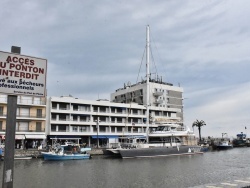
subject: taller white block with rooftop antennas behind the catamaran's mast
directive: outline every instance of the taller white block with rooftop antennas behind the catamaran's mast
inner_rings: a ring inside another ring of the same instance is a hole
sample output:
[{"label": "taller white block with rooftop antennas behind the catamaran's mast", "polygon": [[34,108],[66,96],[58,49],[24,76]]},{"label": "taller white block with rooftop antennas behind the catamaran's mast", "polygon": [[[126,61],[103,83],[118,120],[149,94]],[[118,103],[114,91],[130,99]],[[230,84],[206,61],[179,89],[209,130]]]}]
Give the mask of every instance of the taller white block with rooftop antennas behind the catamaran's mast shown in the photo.
[{"label": "taller white block with rooftop antennas behind the catamaran's mast", "polygon": [[[111,101],[147,105],[147,83],[124,85],[111,94]],[[183,125],[183,88],[161,80],[149,81],[149,111],[155,123],[179,123]]]}]

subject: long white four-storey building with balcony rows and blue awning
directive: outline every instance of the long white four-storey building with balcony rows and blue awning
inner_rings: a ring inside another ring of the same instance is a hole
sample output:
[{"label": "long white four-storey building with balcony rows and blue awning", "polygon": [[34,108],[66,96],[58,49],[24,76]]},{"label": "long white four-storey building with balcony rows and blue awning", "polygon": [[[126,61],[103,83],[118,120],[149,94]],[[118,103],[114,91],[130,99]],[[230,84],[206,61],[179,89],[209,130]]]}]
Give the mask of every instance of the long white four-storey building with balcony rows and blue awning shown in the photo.
[{"label": "long white four-storey building with balcony rows and blue awning", "polygon": [[119,136],[145,135],[146,108],[138,104],[91,101],[72,96],[50,97],[47,104],[48,139],[93,145],[98,138],[100,145],[106,145]]}]

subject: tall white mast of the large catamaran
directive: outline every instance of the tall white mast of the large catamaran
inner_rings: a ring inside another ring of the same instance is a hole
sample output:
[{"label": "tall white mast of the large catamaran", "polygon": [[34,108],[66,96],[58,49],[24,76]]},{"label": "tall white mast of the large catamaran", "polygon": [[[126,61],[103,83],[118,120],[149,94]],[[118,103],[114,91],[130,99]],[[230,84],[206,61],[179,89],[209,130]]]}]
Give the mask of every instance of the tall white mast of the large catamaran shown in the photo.
[{"label": "tall white mast of the large catamaran", "polygon": [[149,141],[148,139],[148,132],[149,132],[149,77],[150,77],[150,72],[149,72],[149,25],[147,25],[147,38],[146,38],[146,70],[147,70],[147,104],[146,104],[146,133],[147,133],[147,142]]}]

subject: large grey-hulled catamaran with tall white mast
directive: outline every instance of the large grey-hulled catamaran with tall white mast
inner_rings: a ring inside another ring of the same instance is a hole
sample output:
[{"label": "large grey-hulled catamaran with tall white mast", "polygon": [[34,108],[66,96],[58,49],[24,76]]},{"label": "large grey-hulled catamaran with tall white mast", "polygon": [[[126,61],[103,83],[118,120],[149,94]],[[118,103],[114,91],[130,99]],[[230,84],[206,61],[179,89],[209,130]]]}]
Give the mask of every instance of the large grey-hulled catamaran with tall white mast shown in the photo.
[{"label": "large grey-hulled catamaran with tall white mast", "polygon": [[106,153],[122,158],[162,157],[175,155],[201,154],[195,134],[189,128],[180,124],[161,122],[155,130],[149,131],[149,26],[146,37],[146,68],[147,68],[147,104],[146,104],[146,140],[139,141],[137,137],[127,138],[127,144],[117,148],[107,149]]}]

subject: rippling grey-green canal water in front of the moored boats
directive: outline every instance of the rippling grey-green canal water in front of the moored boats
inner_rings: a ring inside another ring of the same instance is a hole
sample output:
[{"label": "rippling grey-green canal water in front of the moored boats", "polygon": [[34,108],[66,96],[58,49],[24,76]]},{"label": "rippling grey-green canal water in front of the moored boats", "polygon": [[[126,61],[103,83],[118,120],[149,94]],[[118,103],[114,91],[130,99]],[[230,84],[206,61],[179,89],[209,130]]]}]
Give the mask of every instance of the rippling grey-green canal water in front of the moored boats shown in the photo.
[{"label": "rippling grey-green canal water in front of the moored boats", "polygon": [[[1,185],[2,174],[3,161]],[[14,166],[15,188],[186,188],[246,177],[250,177],[250,148],[162,158],[16,160]]]}]

